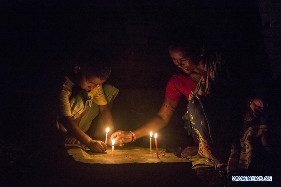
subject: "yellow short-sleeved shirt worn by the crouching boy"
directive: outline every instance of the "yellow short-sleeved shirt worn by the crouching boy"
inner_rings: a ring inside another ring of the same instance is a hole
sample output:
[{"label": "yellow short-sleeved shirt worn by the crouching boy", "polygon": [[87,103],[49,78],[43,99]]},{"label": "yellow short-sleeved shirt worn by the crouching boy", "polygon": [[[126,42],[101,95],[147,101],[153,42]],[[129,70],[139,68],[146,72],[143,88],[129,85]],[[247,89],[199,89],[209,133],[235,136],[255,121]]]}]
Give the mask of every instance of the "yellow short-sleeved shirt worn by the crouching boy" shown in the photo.
[{"label": "yellow short-sleeved shirt worn by the crouching boy", "polygon": [[[72,119],[76,119],[83,110],[81,106],[71,106],[69,99],[72,93],[72,88],[75,84],[68,78],[65,77],[65,83],[62,86],[62,89],[59,93],[59,116],[71,116]],[[97,105],[106,105],[106,97],[103,93],[102,85],[98,84],[90,92],[88,92],[89,98],[91,101]],[[71,113],[72,108],[72,113]],[[77,109],[76,109],[77,108]]]}]

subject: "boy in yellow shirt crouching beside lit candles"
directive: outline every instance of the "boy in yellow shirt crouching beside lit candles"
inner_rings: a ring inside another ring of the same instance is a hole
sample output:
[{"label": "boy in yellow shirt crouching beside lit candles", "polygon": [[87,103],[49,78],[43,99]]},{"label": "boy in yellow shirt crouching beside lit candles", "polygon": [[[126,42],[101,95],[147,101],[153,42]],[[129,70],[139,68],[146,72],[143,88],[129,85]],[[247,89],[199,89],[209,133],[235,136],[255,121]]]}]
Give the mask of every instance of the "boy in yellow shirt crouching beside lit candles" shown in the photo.
[{"label": "boy in yellow shirt crouching beside lit candles", "polygon": [[107,142],[91,139],[85,132],[92,120],[99,114],[94,132],[95,139],[104,136],[106,127],[114,129],[111,107],[119,90],[109,84],[103,85],[111,69],[103,63],[92,60],[76,65],[74,71],[65,77],[59,92],[59,114],[57,128],[67,132],[65,143],[85,144],[92,152],[102,153],[107,149]]}]

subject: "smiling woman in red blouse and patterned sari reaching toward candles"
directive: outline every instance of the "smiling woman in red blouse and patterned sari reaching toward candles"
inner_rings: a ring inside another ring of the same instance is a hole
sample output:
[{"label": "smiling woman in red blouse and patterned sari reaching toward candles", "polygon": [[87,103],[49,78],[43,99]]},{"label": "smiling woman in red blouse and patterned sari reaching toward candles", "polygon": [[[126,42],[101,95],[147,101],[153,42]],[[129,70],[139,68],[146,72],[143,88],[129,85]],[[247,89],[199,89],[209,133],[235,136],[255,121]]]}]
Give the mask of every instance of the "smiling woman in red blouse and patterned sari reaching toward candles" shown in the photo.
[{"label": "smiling woman in red blouse and patterned sari reaching toward candles", "polygon": [[184,74],[171,77],[158,114],[134,131],[113,133],[111,139],[123,146],[151,130],[157,132],[168,124],[184,94],[189,99],[185,120],[198,146],[186,149],[182,155],[197,154],[197,164],[227,166],[228,171],[248,168],[255,153],[269,149],[269,143],[263,117],[266,104],[243,84],[242,66],[205,50],[194,38],[174,38],[169,53]]}]

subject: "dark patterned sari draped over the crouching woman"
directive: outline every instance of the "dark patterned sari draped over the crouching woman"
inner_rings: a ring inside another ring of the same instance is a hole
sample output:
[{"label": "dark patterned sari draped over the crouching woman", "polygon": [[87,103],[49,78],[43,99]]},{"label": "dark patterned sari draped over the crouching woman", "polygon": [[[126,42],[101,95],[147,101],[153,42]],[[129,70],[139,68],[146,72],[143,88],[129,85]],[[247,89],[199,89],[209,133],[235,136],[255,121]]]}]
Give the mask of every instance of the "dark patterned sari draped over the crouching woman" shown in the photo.
[{"label": "dark patterned sari draped over the crouching woman", "polygon": [[237,98],[221,55],[209,56],[202,77],[189,95],[185,113],[199,145],[200,160],[194,165],[224,166],[228,172],[247,169],[259,159],[257,155],[271,150],[267,120],[256,118],[250,108],[244,108],[244,116],[243,112],[235,112],[243,110],[236,104],[246,101]]}]

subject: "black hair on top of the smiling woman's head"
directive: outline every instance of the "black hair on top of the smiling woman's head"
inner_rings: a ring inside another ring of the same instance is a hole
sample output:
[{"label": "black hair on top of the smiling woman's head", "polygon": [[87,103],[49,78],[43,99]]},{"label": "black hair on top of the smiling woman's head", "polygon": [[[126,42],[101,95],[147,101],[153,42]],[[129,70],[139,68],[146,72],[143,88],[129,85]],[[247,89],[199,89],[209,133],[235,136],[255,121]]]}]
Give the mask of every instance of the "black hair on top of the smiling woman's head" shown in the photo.
[{"label": "black hair on top of the smiling woman's head", "polygon": [[178,28],[170,35],[167,43],[168,48],[182,48],[190,55],[199,55],[203,46],[203,37],[199,33],[188,28]]}]

